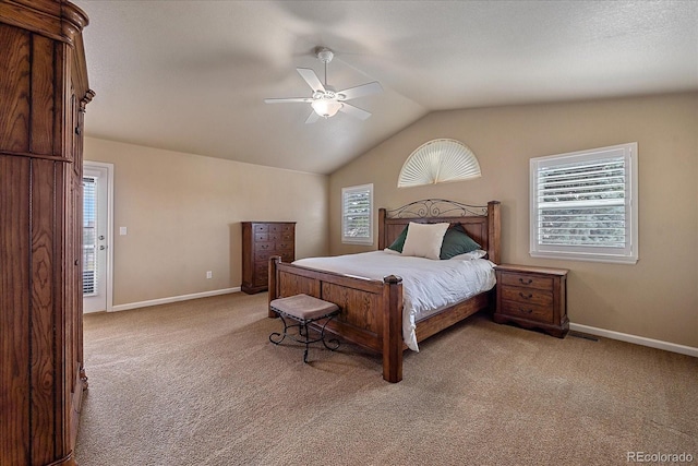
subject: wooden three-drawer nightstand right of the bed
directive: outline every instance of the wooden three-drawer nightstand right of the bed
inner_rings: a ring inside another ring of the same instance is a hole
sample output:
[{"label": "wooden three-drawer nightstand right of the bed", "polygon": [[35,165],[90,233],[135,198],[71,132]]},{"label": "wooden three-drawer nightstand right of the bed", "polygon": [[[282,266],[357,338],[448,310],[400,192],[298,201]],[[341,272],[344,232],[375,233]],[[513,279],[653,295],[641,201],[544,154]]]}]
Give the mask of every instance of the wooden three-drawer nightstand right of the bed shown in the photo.
[{"label": "wooden three-drawer nightstand right of the bed", "polygon": [[564,268],[497,265],[496,323],[515,322],[564,338],[567,319],[567,272]]}]

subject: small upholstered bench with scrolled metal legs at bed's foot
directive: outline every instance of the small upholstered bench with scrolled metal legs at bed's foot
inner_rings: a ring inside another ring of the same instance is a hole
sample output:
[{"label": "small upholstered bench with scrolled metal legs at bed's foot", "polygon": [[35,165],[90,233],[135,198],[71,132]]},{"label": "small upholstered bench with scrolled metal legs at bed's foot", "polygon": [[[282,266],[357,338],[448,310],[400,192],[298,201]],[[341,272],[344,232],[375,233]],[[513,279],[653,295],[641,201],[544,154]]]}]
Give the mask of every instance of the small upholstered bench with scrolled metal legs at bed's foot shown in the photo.
[{"label": "small upholstered bench with scrolled metal legs at bed's foot", "polygon": [[[272,333],[269,335],[269,342],[278,345],[288,336],[298,343],[304,344],[305,353],[303,353],[303,362],[308,363],[308,348],[311,343],[322,342],[325,348],[332,351],[339,347],[339,340],[336,338],[329,340],[332,346],[325,342],[325,326],[327,322],[340,312],[337,304],[308,295],[296,295],[289,296],[288,298],[274,299],[269,302],[269,309],[276,312],[281,319],[281,322],[284,322],[284,333]],[[285,318],[292,319],[298,322],[298,324],[289,325]],[[323,323],[320,330],[320,336],[312,339],[308,325],[323,319],[325,319],[325,323]],[[289,333],[289,330],[293,327],[298,327],[298,334]]]}]

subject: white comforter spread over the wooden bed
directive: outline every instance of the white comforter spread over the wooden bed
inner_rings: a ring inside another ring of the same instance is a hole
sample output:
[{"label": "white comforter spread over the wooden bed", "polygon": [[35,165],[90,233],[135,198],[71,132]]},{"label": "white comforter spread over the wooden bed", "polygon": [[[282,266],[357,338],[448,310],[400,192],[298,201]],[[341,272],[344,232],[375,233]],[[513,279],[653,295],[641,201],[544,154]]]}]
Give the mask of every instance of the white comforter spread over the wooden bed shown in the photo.
[{"label": "white comforter spread over the wooden bed", "polygon": [[394,251],[372,251],[300,259],[293,263],[377,280],[387,275],[402,277],[402,338],[414,351],[419,351],[414,333],[417,321],[495,285],[494,264],[485,259],[435,261]]}]

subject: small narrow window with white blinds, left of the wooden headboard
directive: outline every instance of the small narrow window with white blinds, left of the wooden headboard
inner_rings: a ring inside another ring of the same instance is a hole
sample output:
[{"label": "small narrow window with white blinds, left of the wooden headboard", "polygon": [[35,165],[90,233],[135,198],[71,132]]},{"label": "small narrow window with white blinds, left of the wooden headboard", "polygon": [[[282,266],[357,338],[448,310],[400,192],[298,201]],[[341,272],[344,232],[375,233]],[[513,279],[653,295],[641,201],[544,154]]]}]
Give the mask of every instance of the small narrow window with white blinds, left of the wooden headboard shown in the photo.
[{"label": "small narrow window with white blinds, left of the wooden headboard", "polygon": [[341,241],[373,244],[373,184],[341,189]]}]

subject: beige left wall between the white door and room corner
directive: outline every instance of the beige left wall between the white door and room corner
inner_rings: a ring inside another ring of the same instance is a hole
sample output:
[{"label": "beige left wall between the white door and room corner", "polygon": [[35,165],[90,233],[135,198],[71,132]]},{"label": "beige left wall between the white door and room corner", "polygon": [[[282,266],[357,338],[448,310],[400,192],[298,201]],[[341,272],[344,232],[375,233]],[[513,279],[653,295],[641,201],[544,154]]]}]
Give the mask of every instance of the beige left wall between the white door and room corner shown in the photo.
[{"label": "beige left wall between the white door and room corner", "polygon": [[85,159],[115,165],[115,306],[239,287],[240,222],[297,222],[298,258],[328,252],[326,176],[93,138]]}]

